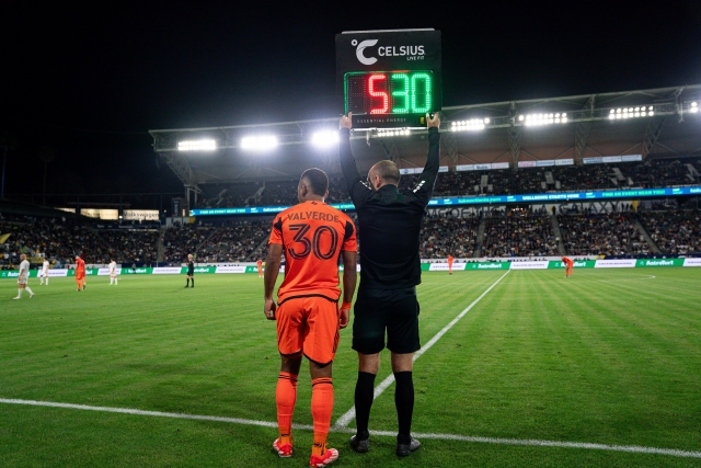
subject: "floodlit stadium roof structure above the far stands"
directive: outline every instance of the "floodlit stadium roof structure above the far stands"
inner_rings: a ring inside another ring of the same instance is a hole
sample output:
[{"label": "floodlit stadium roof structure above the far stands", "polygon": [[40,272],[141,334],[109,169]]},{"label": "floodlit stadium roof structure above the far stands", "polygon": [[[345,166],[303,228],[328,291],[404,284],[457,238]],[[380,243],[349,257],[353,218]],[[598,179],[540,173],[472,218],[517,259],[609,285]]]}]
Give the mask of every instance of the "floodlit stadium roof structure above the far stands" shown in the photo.
[{"label": "floodlit stadium roof structure above the far stands", "polygon": [[[441,165],[642,155],[701,155],[701,84],[628,92],[447,106],[441,111]],[[337,145],[319,148],[321,132],[338,117],[208,128],[149,130],[153,149],[187,193],[204,184],[298,179],[308,168],[341,174]],[[248,149],[245,138],[269,137],[277,146]],[[426,130],[353,132],[358,169],[381,159],[400,168],[425,163]],[[205,142],[210,149],[198,150]],[[215,149],[211,149],[215,148]],[[189,150],[184,150],[189,149]]]}]

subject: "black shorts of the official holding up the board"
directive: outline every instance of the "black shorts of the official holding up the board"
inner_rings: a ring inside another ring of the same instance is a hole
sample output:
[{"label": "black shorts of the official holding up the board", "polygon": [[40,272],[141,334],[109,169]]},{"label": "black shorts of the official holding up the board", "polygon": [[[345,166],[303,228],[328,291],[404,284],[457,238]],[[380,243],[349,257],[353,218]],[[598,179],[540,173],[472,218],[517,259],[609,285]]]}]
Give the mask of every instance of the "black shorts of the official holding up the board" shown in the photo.
[{"label": "black shorts of the official holding up the board", "polygon": [[358,289],[354,308],[353,349],[376,354],[387,347],[399,354],[421,349],[416,288]]}]

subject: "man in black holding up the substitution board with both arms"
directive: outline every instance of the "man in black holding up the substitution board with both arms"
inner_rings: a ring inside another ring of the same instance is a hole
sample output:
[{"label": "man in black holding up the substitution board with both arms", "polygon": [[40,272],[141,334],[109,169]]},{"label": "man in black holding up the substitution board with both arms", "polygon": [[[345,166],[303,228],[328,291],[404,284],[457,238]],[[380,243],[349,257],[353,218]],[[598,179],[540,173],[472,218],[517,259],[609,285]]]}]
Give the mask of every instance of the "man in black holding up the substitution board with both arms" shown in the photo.
[{"label": "man in black holding up the substitution board with both arms", "polygon": [[367,179],[360,175],[350,150],[352,114],[341,117],[338,123],[341,169],[358,214],[359,243],[363,246],[360,286],[353,322],[353,349],[357,351],[359,362],[355,387],[357,432],[350,437],[350,447],[359,453],[369,448],[370,408],[386,332],[397,381],[397,455],[406,456],[421,446],[411,436],[413,357],[421,349],[416,300],[416,285],[421,283],[418,247],[424,213],[440,161],[440,119],[436,114],[433,118],[426,115],[426,121],[428,157],[424,172],[414,187],[401,192],[399,169],[392,161],[372,165]]}]

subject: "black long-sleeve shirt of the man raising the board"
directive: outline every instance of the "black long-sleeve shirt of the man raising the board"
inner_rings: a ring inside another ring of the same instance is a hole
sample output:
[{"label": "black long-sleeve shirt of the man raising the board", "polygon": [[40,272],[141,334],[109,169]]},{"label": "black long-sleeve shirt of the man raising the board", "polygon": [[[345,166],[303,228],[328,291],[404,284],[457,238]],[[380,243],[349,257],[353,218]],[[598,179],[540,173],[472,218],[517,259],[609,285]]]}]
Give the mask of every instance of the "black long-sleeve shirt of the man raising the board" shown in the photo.
[{"label": "black long-sleeve shirt of the man raising the board", "polygon": [[340,159],[350,199],[358,214],[360,286],[402,289],[421,283],[420,232],[440,163],[440,134],[428,129],[428,157],[418,182],[409,191],[383,185],[372,191],[356,167],[350,132],[340,130]]}]

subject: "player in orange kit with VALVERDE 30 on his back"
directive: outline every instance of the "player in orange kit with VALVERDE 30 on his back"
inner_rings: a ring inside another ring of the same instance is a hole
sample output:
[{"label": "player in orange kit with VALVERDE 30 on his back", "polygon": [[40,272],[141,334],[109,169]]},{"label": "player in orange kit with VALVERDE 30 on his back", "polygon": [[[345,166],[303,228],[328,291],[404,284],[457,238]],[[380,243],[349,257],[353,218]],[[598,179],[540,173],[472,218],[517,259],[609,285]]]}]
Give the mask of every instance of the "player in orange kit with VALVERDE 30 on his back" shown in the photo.
[{"label": "player in orange kit with VALVERDE 30 on his back", "polygon": [[[320,169],[302,174],[297,189],[299,204],[281,212],[273,221],[265,261],[265,306],[268,320],[277,319],[277,343],[281,357],[275,401],[279,437],[273,447],[280,457],[292,454],[292,413],[297,376],[302,354],[309,359],[314,420],[310,466],[323,467],[338,458],[326,447],[333,411],[332,363],[338,345],[338,329],[348,324],[357,279],[355,225],[348,216],[326,205],[329,178]],[[275,281],[285,250],[285,281],[273,299]],[[338,256],[343,256],[343,304],[338,309]]]}]

